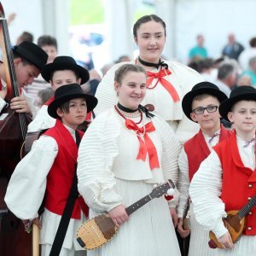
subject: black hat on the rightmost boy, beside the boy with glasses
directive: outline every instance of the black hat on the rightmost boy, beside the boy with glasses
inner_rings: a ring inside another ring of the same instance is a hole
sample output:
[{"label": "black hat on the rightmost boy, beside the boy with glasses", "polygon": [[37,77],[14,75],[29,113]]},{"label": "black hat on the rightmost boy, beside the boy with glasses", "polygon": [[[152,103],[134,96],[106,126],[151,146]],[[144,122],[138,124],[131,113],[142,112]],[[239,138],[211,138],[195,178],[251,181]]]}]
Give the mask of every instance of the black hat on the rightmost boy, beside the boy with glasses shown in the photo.
[{"label": "black hat on the rightmost boy, beside the boy with glasses", "polygon": [[228,119],[228,113],[236,102],[240,101],[255,101],[256,89],[253,86],[238,86],[230,93],[230,98],[219,105],[218,111],[224,119]]}]

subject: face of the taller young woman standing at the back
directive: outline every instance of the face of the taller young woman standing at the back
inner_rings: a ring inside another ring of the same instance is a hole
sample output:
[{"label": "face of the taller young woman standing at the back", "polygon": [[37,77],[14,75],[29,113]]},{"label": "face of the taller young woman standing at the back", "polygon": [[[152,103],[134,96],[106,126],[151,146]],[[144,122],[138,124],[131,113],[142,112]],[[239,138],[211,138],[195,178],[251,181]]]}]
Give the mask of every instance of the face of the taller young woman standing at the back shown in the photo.
[{"label": "face of the taller young woman standing at the back", "polygon": [[158,62],[166,43],[165,28],[154,20],[143,23],[137,29],[135,41],[143,61]]}]

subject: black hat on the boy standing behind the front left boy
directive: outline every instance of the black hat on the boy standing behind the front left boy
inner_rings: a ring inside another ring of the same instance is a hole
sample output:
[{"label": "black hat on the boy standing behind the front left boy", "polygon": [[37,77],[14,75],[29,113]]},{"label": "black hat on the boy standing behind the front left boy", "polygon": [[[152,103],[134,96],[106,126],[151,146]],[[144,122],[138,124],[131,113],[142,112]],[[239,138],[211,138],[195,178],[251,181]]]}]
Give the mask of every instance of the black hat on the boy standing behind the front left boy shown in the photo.
[{"label": "black hat on the boy standing behind the front left boy", "polygon": [[73,70],[75,73],[79,75],[79,78],[81,78],[81,84],[86,83],[89,79],[89,73],[84,68],[77,64],[77,62],[70,56],[57,56],[55,57],[54,61],[52,63],[49,63],[44,66],[44,68],[41,71],[42,77],[44,80],[49,82],[51,79],[51,75],[56,70]]}]

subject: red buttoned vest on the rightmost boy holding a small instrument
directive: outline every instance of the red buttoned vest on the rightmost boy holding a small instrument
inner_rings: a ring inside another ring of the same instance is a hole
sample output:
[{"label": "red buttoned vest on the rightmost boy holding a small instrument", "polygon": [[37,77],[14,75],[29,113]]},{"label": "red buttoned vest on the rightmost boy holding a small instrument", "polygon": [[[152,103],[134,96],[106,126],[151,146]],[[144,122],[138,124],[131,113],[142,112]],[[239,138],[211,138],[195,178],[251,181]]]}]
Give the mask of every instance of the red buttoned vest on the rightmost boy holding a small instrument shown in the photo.
[{"label": "red buttoned vest on the rightmost boy holding a small instrument", "polygon": [[[227,140],[214,147],[223,169],[222,194],[225,211],[241,210],[249,198],[256,195],[256,170],[243,165],[234,132]],[[253,154],[252,154],[253,157]],[[245,235],[256,235],[256,207],[247,214]]]}]

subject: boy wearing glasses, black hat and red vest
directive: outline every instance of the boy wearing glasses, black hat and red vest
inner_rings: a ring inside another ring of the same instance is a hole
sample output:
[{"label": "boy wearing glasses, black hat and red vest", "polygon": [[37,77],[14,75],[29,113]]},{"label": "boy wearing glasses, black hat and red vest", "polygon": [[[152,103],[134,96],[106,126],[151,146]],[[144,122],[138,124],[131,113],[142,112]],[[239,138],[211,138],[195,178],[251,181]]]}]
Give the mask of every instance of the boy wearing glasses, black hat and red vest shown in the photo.
[{"label": "boy wearing glasses, black hat and red vest", "polygon": [[[180,236],[189,236],[189,230],[183,229],[183,211],[189,197],[189,183],[201,162],[211,153],[212,147],[230,136],[231,131],[225,130],[220,124],[218,106],[227,96],[218,89],[218,86],[209,82],[195,84],[189,93],[183,97],[183,113],[192,121],[197,122],[201,129],[192,138],[184,143],[179,155],[178,165],[180,170],[178,188],[180,201],[177,208],[178,226]],[[193,205],[190,206],[190,255],[211,255],[207,244],[208,232],[203,230],[195,221]]]}]

